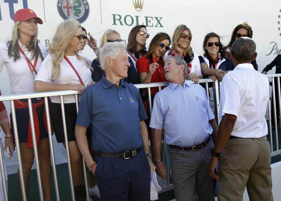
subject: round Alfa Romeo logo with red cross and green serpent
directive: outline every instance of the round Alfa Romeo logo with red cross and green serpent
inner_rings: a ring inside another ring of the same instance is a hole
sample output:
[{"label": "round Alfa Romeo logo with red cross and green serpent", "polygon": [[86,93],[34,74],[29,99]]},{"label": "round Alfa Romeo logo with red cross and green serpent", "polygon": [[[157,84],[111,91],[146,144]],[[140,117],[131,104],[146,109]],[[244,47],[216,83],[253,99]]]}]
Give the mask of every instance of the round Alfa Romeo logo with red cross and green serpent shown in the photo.
[{"label": "round Alfa Romeo logo with red cross and green serpent", "polygon": [[57,10],[64,20],[71,18],[83,23],[89,16],[87,0],[58,0]]}]

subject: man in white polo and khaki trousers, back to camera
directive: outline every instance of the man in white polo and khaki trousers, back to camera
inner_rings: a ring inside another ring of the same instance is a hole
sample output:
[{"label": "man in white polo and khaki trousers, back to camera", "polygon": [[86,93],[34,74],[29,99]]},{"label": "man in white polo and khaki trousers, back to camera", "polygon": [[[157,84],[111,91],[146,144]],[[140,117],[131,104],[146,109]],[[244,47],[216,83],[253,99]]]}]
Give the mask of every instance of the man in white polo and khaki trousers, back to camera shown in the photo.
[{"label": "man in white polo and khaki trousers, back to camera", "polygon": [[242,201],[245,187],[250,200],[273,200],[265,120],[269,83],[253,68],[256,57],[251,38],[237,39],[230,52],[235,69],[222,80],[219,130],[208,166],[210,176],[218,180],[219,201]]}]

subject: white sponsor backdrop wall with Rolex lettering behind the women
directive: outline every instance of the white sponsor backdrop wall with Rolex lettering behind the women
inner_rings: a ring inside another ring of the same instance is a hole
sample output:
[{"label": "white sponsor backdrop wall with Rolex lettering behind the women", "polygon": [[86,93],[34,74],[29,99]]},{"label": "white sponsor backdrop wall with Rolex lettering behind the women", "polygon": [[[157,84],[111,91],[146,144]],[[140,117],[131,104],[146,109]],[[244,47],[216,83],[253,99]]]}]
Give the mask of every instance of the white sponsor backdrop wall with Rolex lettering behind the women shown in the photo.
[{"label": "white sponsor backdrop wall with Rolex lettering behind the women", "polygon": [[[63,21],[59,10],[64,13],[62,15],[67,15],[67,9],[63,9],[61,6],[66,6],[68,2],[69,6],[73,8],[69,9],[71,17],[75,17],[75,4],[81,5],[78,20],[86,19],[81,25],[93,35],[98,45],[104,30],[109,28],[117,30],[121,38],[127,41],[130,30],[137,23],[147,25],[147,32],[150,34],[150,38],[147,40],[148,47],[156,33],[166,32],[172,36],[178,25],[185,24],[190,28],[193,35],[191,41],[193,50],[201,55],[202,42],[206,33],[217,33],[221,36],[222,43],[227,45],[234,27],[241,21],[247,21],[252,26],[253,39],[257,44],[257,63],[260,72],[278,53],[281,53],[281,2],[279,0],[267,2],[254,0],[142,0],[142,10],[137,11],[134,3],[138,1],[0,0],[0,42],[6,41],[11,35],[14,12],[21,8],[30,8],[43,20],[42,25],[38,24],[38,39],[41,43],[47,45],[51,42],[57,25]],[[86,14],[87,11],[88,15]],[[117,19],[120,19],[120,21]],[[91,59],[96,57],[88,46],[85,47],[82,54]],[[269,73],[273,74],[274,72],[275,68]],[[3,68],[0,72],[2,95],[10,94],[9,83],[6,69]],[[9,102],[5,101],[4,103],[9,113]],[[54,142],[56,142],[55,138]],[[58,156],[57,162],[65,162],[64,148],[58,144],[55,146],[55,153]],[[60,160],[60,157],[63,160]],[[12,161],[6,162],[8,166],[16,164],[16,154]]]}]

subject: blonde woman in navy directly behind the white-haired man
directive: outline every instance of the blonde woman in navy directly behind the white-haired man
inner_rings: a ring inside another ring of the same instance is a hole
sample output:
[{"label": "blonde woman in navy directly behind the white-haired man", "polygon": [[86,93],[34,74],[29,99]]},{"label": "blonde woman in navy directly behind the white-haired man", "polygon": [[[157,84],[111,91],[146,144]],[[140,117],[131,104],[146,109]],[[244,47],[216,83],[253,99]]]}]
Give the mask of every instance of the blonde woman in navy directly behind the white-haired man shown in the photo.
[{"label": "blonde woman in navy directly behind the white-haired man", "polygon": [[[106,42],[115,42],[115,41],[122,42],[123,40],[120,38],[120,34],[116,30],[108,29],[101,37],[101,43],[98,49],[100,50]],[[139,74],[137,73],[137,70],[134,68],[132,59],[130,57],[128,59],[131,66],[128,68],[128,77],[124,78],[124,81],[127,83],[139,84],[140,83]],[[103,77],[103,75],[105,75],[105,72],[103,69],[101,69],[101,64],[98,55],[97,58],[93,60],[92,67],[93,67],[92,79],[95,82],[99,82]]]}]

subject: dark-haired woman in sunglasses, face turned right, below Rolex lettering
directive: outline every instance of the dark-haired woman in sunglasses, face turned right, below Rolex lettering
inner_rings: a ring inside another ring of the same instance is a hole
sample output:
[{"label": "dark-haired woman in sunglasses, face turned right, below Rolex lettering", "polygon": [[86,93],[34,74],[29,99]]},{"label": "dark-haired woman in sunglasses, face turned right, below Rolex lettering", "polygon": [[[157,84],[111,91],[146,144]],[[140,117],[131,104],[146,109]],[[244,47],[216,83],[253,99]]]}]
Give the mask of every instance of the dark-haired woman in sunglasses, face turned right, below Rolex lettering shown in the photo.
[{"label": "dark-haired woman in sunglasses, face turned right, below Rolex lettering", "polygon": [[127,51],[136,70],[137,59],[147,54],[147,48],[145,47],[147,38],[149,38],[149,34],[145,25],[137,25],[129,33]]}]

